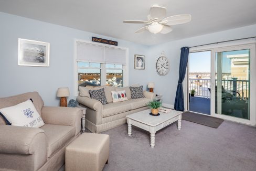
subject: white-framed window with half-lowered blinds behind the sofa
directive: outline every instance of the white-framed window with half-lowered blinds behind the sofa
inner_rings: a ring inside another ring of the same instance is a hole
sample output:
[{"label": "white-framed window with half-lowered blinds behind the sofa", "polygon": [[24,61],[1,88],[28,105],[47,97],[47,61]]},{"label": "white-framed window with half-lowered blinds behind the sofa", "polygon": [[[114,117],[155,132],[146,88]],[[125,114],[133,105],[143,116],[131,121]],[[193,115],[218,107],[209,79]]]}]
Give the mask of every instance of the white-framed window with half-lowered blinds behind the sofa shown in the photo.
[{"label": "white-framed window with half-lowered blinds behind the sofa", "polygon": [[124,87],[127,79],[127,49],[91,42],[76,42],[76,86]]}]

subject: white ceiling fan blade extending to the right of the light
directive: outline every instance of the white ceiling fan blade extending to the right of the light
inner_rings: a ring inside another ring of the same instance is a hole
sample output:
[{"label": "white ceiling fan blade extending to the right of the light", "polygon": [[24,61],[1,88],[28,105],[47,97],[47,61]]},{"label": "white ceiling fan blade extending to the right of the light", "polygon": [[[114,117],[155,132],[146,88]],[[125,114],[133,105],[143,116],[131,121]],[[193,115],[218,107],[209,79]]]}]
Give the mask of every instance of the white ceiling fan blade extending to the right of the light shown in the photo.
[{"label": "white ceiling fan blade extending to the right of the light", "polygon": [[182,15],[174,15],[170,17],[166,17],[162,20],[162,23],[166,25],[177,25],[188,23],[191,20],[190,14],[182,14]]}]

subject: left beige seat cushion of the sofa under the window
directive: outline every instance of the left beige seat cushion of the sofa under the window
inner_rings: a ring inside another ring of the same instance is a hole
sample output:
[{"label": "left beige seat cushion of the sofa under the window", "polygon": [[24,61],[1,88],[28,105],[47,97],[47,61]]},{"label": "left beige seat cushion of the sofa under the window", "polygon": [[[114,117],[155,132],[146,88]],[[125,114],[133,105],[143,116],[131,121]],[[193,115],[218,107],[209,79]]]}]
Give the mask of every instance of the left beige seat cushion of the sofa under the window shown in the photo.
[{"label": "left beige seat cushion of the sofa under the window", "polygon": [[[127,101],[124,101],[124,102],[127,102]],[[109,103],[109,104],[103,105],[103,117],[130,111],[132,109],[131,104],[124,103],[124,102]]]}]

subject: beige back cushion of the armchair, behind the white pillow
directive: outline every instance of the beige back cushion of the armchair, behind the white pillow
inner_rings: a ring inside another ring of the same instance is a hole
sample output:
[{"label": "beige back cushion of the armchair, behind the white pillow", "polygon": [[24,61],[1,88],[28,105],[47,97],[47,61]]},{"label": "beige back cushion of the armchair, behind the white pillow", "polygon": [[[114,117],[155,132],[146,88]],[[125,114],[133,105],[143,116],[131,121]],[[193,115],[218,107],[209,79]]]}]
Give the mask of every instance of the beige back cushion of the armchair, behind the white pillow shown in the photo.
[{"label": "beige back cushion of the armchair, behind the white pillow", "polygon": [[[41,116],[41,109],[42,109],[42,106],[44,106],[44,101],[42,101],[42,98],[40,97],[38,92],[29,92],[29,93],[10,96],[7,98],[0,98],[0,109],[25,102],[28,99],[33,100],[33,104],[37,112]],[[1,116],[0,116],[0,124],[6,124]]]}]

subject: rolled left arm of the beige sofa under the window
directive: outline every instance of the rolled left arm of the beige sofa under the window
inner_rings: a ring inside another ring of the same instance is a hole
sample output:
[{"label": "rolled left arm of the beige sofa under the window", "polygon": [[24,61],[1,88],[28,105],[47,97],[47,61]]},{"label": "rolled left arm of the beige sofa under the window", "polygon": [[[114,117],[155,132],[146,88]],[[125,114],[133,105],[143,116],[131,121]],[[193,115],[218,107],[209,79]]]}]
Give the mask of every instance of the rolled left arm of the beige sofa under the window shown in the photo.
[{"label": "rolled left arm of the beige sofa under the window", "polygon": [[103,111],[103,105],[99,100],[91,99],[88,97],[81,97],[80,95],[77,97],[77,101],[88,108],[95,110],[97,112]]}]

